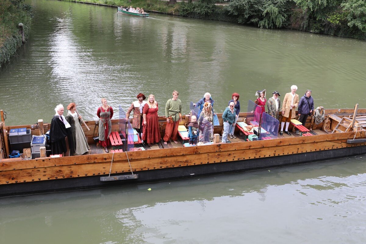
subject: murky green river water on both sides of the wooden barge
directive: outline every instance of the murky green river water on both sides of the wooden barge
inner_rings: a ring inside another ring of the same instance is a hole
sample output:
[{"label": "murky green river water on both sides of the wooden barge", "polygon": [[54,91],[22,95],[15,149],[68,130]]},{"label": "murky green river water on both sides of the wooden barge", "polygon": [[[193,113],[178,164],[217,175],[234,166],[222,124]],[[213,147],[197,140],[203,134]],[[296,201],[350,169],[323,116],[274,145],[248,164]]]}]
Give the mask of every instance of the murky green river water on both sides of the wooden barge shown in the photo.
[{"label": "murky green river water on both sides of the wooden barge", "polygon": [[[366,42],[290,30],[27,0],[29,41],[0,69],[7,124],[51,121],[100,98],[127,109],[139,92],[184,113],[209,91],[222,112],[259,89],[313,91],[315,106],[365,108]],[[269,98],[272,94],[267,95]],[[1,243],[364,243],[365,156],[182,181],[0,199]],[[148,189],[151,188],[151,191]]]}]

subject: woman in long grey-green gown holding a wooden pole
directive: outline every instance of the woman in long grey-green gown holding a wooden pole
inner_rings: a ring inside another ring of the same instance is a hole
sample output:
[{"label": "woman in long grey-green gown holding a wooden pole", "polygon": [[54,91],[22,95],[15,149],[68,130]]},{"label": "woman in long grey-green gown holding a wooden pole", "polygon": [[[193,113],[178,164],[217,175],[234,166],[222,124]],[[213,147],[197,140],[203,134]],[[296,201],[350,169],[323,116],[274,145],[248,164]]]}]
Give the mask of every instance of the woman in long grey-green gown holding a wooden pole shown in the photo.
[{"label": "woman in long grey-green gown holding a wooden pole", "polygon": [[81,116],[76,113],[76,104],[72,102],[67,106],[67,122],[71,125],[73,144],[70,145],[70,155],[83,155],[90,150],[84,131],[81,127]]}]

